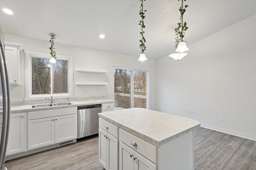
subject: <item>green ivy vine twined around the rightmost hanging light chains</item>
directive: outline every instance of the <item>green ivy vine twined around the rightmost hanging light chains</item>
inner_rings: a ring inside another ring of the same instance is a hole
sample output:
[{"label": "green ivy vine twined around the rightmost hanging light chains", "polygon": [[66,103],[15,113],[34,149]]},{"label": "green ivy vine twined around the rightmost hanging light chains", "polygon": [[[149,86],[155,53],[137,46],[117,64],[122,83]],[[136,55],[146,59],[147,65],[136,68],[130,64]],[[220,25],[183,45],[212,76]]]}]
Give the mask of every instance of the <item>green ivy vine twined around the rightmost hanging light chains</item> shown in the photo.
[{"label": "green ivy vine twined around the rightmost hanging light chains", "polygon": [[[180,0],[178,0],[180,1]],[[186,1],[186,0],[184,0]],[[188,29],[187,27],[187,23],[186,21],[183,24],[183,15],[186,12],[186,8],[188,7],[188,5],[185,5],[185,8],[183,8],[183,0],[181,2],[181,6],[180,6],[180,22],[178,23],[178,27],[175,29],[175,35],[177,35],[177,37],[175,38],[176,41],[176,47],[178,46],[178,43],[183,39],[184,35],[185,35],[185,31]]]}]

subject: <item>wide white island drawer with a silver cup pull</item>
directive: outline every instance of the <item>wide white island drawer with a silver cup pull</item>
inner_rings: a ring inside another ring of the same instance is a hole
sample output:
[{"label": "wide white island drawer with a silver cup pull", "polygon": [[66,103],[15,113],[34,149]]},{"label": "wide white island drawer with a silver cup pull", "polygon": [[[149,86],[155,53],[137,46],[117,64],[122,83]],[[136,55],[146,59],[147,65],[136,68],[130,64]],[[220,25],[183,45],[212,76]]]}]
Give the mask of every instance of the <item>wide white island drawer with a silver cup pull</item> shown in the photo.
[{"label": "wide white island drawer with a silver cup pull", "polygon": [[[119,129],[119,141],[125,143],[128,147],[136,150],[152,162],[156,164],[156,147],[143,141],[142,139],[124,131],[123,129]],[[132,142],[135,142],[137,146],[132,145]]]}]

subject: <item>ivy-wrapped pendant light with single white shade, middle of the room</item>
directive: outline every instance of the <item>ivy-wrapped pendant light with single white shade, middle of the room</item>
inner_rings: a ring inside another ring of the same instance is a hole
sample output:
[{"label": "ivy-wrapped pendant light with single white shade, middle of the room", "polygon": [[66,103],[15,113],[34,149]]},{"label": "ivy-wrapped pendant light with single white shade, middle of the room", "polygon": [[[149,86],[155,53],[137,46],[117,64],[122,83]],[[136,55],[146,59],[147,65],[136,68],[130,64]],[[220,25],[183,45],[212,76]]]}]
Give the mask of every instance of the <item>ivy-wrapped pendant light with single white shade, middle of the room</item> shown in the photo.
[{"label": "ivy-wrapped pendant light with single white shade, middle of the room", "polygon": [[143,28],[145,28],[145,25],[144,25],[144,21],[143,19],[145,18],[145,12],[147,10],[143,10],[143,1],[145,0],[140,0],[141,1],[141,5],[140,5],[140,17],[141,17],[141,20],[140,20],[140,27],[141,27],[141,32],[140,32],[140,35],[141,35],[141,39],[140,39],[140,49],[141,49],[141,54],[140,54],[140,58],[138,59],[138,61],[145,61],[147,60],[145,54],[144,54],[144,51],[146,50],[146,46],[145,46],[145,43],[146,43],[146,40],[144,38],[144,31],[143,31]]}]

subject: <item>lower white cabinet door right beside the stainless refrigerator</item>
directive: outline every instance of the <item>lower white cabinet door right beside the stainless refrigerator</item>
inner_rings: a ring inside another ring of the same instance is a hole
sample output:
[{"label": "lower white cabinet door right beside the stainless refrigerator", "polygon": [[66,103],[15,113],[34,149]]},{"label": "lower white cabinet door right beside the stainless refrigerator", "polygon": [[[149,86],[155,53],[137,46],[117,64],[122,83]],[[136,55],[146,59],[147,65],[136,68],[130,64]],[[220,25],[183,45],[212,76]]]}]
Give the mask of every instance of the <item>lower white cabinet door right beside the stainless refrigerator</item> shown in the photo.
[{"label": "lower white cabinet door right beside the stainless refrigerator", "polygon": [[6,155],[25,151],[25,113],[11,114]]}]

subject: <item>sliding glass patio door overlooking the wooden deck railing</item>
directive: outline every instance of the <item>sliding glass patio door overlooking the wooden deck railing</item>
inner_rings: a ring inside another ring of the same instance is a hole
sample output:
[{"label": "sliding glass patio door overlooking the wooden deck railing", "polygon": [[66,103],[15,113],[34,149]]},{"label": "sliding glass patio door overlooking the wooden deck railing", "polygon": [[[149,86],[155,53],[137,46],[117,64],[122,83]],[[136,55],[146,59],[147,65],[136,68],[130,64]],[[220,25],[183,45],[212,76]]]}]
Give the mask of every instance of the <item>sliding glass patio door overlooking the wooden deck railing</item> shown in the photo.
[{"label": "sliding glass patio door overlooking the wooden deck railing", "polygon": [[114,67],[115,109],[148,108],[148,71]]}]

